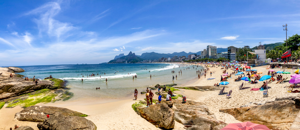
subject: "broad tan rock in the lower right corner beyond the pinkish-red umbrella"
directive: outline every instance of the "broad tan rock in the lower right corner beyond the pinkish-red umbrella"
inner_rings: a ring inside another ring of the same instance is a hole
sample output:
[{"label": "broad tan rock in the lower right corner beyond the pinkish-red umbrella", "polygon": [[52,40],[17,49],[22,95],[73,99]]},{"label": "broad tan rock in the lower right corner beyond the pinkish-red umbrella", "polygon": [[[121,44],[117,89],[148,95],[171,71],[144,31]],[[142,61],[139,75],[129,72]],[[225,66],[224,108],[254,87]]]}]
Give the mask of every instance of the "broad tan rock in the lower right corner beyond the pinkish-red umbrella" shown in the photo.
[{"label": "broad tan rock in the lower right corner beyond the pinkish-red umbrella", "polygon": [[269,129],[289,129],[294,122],[299,109],[295,107],[294,100],[278,100],[259,106],[242,108],[220,109],[220,112],[231,114],[241,122],[266,125]]}]

